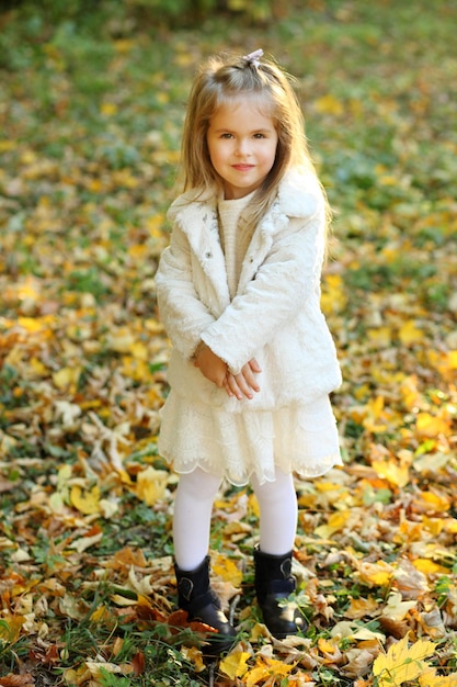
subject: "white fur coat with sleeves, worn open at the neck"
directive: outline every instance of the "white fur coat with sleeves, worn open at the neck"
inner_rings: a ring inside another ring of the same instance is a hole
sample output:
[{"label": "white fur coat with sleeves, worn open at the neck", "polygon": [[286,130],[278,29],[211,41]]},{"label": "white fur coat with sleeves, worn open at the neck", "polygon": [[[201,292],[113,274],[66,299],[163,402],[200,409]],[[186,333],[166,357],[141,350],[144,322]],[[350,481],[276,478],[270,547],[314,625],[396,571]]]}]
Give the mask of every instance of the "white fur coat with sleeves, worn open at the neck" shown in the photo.
[{"label": "white fur coat with sleeves, worn open at the neck", "polygon": [[[159,311],[173,349],[168,379],[192,402],[231,410],[312,403],[341,383],[320,309],[324,205],[312,174],[289,172],[260,222],[230,302],[216,196],[188,191],[171,205],[170,246],[156,275]],[[229,398],[193,365],[203,339],[237,373],[252,358],[262,372],[252,401]]]}]

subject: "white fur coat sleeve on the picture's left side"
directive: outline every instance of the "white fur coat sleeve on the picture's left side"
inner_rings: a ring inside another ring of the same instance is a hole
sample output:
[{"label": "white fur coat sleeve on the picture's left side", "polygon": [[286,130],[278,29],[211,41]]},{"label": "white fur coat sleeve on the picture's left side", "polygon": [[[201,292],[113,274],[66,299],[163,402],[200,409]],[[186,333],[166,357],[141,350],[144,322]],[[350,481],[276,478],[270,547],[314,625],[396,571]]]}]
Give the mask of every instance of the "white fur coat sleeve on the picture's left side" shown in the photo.
[{"label": "white fur coat sleeve on the picture's left side", "polygon": [[191,249],[179,223],[156,273],[160,318],[171,342],[184,358],[192,358],[202,331],[215,317],[199,301],[192,280]]}]

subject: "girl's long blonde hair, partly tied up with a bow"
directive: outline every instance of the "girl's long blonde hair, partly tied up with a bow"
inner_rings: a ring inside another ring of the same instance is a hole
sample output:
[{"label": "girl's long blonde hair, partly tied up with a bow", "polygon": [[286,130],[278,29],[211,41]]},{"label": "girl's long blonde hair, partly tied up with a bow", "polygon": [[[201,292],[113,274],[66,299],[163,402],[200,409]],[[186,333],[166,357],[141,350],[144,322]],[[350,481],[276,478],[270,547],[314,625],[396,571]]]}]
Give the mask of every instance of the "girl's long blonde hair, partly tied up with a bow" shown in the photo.
[{"label": "girl's long blonde hair, partly tied up with a bow", "polygon": [[[207,131],[220,105],[243,98],[253,99],[262,111],[267,105],[278,137],[273,167],[244,217],[248,224],[255,225],[265,214],[289,167],[305,168],[316,174],[294,86],[294,77],[265,58],[253,63],[244,57],[220,55],[203,64],[191,90],[184,121],[181,147],[184,191],[192,188],[204,191],[215,184],[221,188],[222,181],[210,161]],[[327,215],[330,216],[329,207]]]}]

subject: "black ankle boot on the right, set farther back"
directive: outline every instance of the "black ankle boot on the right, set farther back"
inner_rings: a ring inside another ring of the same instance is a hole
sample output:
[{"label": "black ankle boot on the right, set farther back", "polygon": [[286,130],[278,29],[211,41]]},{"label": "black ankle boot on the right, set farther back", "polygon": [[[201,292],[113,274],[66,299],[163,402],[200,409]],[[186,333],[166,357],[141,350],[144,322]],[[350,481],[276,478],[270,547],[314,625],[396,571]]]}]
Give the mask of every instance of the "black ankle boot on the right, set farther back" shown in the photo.
[{"label": "black ankle boot on the right, set farther back", "polygon": [[276,639],[305,632],[307,622],[298,606],[287,600],[295,592],[296,581],[290,574],[292,551],[286,555],[271,555],[254,549],[255,593],[263,621]]}]

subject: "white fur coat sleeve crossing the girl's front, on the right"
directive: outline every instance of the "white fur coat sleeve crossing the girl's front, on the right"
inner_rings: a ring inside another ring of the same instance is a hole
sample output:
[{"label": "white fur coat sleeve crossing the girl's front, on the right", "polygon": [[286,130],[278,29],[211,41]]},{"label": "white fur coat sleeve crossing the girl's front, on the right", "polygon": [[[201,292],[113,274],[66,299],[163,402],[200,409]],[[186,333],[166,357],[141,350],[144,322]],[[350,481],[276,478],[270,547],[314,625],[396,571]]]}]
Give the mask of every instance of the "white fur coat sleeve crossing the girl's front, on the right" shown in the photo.
[{"label": "white fur coat sleeve crossing the girl's front, on the right", "polygon": [[290,219],[245,290],[205,329],[202,339],[233,374],[320,293],[323,254],[323,207]]}]

